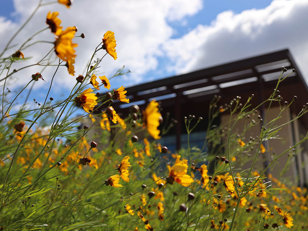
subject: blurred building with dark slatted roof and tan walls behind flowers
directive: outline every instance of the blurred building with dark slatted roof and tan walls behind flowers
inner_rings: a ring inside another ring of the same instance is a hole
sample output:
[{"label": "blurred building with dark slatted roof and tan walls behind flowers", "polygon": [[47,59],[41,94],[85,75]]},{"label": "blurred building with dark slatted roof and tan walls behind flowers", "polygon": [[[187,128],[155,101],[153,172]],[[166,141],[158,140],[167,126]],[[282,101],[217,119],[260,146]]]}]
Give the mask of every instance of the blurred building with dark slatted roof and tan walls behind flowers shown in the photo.
[{"label": "blurred building with dark slatted roof and tan walls behind flowers", "polygon": [[[187,133],[184,124],[184,116],[195,115],[202,116],[204,120],[196,127],[190,136],[190,146],[202,147],[205,141],[206,129],[208,126],[209,103],[214,95],[220,95],[219,105],[229,104],[233,98],[241,96],[241,102],[245,103],[249,96],[254,94],[251,101],[251,108],[268,99],[276,87],[278,77],[282,66],[288,69],[282,77],[293,72],[288,78],[279,84],[278,90],[283,97],[283,101],[292,101],[294,95],[297,100],[287,107],[281,114],[279,124],[286,123],[296,117],[307,102],[308,87],[303,76],[298,70],[289,50],[277,51],[265,55],[243,59],[215,67],[194,71],[184,75],[173,76],[165,79],[155,80],[150,83],[143,83],[137,86],[128,87],[127,95],[130,103],[113,103],[116,111],[121,111],[124,115],[129,113],[129,107],[133,104],[139,105],[144,109],[148,102],[156,99],[160,102],[161,113],[166,117],[170,113],[170,118],[178,121],[160,143],[166,145],[168,149],[175,151],[187,147]],[[283,101],[281,102],[283,104]],[[218,106],[219,106],[218,105]],[[268,104],[260,107],[256,112],[264,118]],[[279,103],[272,103],[268,113],[267,121],[270,121],[279,114]],[[308,113],[307,113],[308,114]],[[265,142],[266,153],[261,164],[267,166],[273,155],[279,155],[283,151],[293,146],[306,135],[308,130],[308,116],[305,114],[299,120],[282,127],[277,133],[282,140],[270,140]],[[213,121],[213,124],[225,124],[229,121],[228,112],[221,113]],[[236,115],[235,115],[236,116]],[[245,120],[240,120],[234,132],[240,132],[244,128]],[[260,134],[260,126],[254,126],[245,135],[245,142],[248,142],[249,136],[255,137]],[[289,168],[285,169],[284,176],[291,176],[295,182],[304,186],[308,182],[308,141],[304,142],[294,151],[296,154],[292,158]],[[279,172],[285,166],[288,160],[286,153],[274,166],[273,175],[279,175]]]}]

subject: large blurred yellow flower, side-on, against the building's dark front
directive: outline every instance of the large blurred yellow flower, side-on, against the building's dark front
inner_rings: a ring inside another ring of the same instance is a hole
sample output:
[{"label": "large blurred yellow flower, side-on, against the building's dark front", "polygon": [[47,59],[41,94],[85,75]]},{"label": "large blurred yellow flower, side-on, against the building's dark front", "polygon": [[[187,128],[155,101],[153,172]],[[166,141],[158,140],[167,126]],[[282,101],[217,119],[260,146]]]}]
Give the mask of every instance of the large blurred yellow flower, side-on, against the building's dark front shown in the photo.
[{"label": "large blurred yellow flower, side-on, against the building's dark front", "polygon": [[160,124],[161,114],[158,112],[158,105],[159,103],[153,99],[143,111],[144,127],[147,128],[148,133],[156,140],[160,139],[160,130],[157,128]]}]

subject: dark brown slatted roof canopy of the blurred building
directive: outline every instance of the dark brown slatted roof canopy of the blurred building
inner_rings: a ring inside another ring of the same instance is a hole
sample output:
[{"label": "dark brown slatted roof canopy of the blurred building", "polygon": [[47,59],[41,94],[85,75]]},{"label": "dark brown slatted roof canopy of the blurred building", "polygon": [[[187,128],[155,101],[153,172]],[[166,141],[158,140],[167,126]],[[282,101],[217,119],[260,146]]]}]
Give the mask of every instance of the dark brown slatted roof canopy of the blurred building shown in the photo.
[{"label": "dark brown slatted roof canopy of the blurred building", "polygon": [[[142,109],[149,101],[156,99],[163,109],[173,111],[176,120],[180,121],[186,115],[187,108],[193,105],[199,105],[199,110],[207,113],[206,103],[214,95],[221,96],[221,103],[229,103],[237,95],[248,98],[254,94],[258,104],[274,90],[282,66],[288,69],[283,77],[290,74],[292,69],[296,70],[280,83],[279,90],[285,100],[290,101],[293,95],[303,98],[292,104],[291,110],[298,111],[306,103],[308,87],[288,49],[128,87],[126,95],[130,103],[115,100],[112,106],[125,115],[129,113],[128,108],[132,104],[138,104]],[[200,105],[203,109],[200,109]],[[178,123],[178,148],[181,132],[181,125]]]}]

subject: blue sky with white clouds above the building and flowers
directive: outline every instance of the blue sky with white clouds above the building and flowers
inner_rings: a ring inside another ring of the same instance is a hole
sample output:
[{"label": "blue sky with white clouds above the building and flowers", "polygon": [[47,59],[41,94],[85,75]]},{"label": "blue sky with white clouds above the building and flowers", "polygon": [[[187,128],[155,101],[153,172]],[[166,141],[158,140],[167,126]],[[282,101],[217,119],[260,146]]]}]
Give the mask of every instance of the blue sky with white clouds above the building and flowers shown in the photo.
[{"label": "blue sky with white clouds above the building and flowers", "polygon": [[[0,1],[0,51],[38,2]],[[43,0],[43,3],[47,2],[54,1]],[[48,11],[59,12],[63,29],[77,26],[76,35],[85,34],[84,39],[74,39],[78,44],[75,77],[67,73],[66,67],[59,68],[55,76],[50,92],[55,99],[69,94],[76,83],[75,78],[82,74],[107,30],[115,33],[118,59],[105,56],[97,75],[108,78],[123,66],[131,71],[112,79],[111,89],[285,48],[290,49],[300,71],[308,78],[308,0],[75,0],[69,9],[59,3],[41,6],[12,44],[23,43],[47,27]],[[38,40],[53,42],[54,35],[45,30],[33,39]],[[37,62],[51,48],[49,43],[37,43],[24,50],[25,56],[31,59],[14,63],[14,68]],[[15,47],[6,55],[14,51]],[[103,54],[102,51],[98,55]],[[57,60],[55,54],[52,57]],[[34,66],[17,72],[7,86],[11,91],[18,91],[30,81],[32,74],[41,72],[42,68]],[[42,72],[46,82],[35,82],[29,101],[45,99],[55,68],[47,67]],[[25,95],[21,95],[20,103],[24,99]]]}]

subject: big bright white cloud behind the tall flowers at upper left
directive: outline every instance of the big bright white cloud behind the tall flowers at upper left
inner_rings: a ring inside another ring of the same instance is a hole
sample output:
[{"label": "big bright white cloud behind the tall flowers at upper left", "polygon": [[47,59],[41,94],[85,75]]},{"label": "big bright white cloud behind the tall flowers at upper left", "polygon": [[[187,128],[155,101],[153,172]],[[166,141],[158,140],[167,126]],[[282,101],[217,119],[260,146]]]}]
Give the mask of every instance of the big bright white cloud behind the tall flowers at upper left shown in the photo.
[{"label": "big bright white cloud behind the tall flowers at upper left", "polygon": [[[10,38],[13,32],[29,17],[37,3],[38,1],[14,0],[16,11],[12,15],[20,18],[20,20],[18,20],[18,23],[14,23],[1,17],[0,37]],[[94,48],[101,42],[104,33],[107,30],[112,30],[115,32],[118,59],[113,60],[110,56],[106,56],[100,65],[99,73],[108,76],[125,65],[133,71],[129,76],[129,81],[133,84],[139,82],[148,71],[156,69],[158,64],[157,58],[163,55],[160,47],[171,38],[173,33],[172,28],[168,25],[168,21],[182,20],[187,15],[195,14],[201,8],[201,0],[134,0],[129,2],[126,0],[88,0],[74,1],[70,9],[57,3],[40,7],[30,23],[18,34],[12,44],[21,43],[31,34],[47,27],[45,23],[47,12],[58,11],[58,17],[62,20],[61,25],[64,28],[67,26],[77,26],[78,32],[76,35],[81,33],[86,35],[85,39],[76,38],[74,41],[78,43],[75,64],[75,74],[77,76],[82,73]],[[37,40],[53,41],[54,35],[49,30],[46,30],[36,36],[33,41]],[[6,42],[6,39],[1,39],[1,51]],[[52,44],[39,43],[32,48],[26,49],[24,51],[25,56],[32,56],[34,58],[22,63],[22,66],[39,61],[42,55],[44,56],[51,48]],[[15,47],[6,54],[11,55],[14,51]],[[102,56],[104,51],[100,51],[99,54]],[[15,65],[13,68],[18,68],[18,65]],[[24,85],[30,80],[31,74],[40,71],[42,68],[34,66],[24,69],[25,71],[23,72],[17,72],[14,74],[14,84]],[[55,67],[48,67],[42,73],[47,83],[39,81],[35,83],[35,88],[46,88],[51,81],[54,71]],[[126,80],[128,82],[128,79]],[[75,84],[75,77],[68,75],[66,68],[63,67],[59,69],[54,81],[55,84],[61,84],[62,87],[67,86],[70,88],[72,84]]]}]

